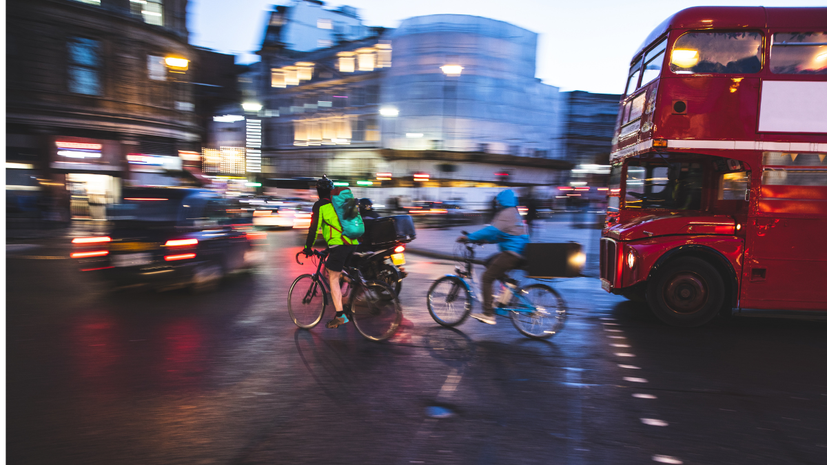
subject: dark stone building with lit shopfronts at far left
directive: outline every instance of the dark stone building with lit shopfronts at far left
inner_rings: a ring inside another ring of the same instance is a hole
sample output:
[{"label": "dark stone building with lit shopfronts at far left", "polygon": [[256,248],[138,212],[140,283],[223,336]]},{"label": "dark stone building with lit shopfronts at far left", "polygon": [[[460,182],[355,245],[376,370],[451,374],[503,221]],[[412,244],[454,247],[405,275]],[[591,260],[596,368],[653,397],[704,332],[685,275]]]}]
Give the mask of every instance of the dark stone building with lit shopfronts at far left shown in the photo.
[{"label": "dark stone building with lit shopfronts at far left", "polygon": [[35,197],[40,213],[100,219],[124,184],[180,182],[179,152],[200,149],[186,7],[7,2],[9,216]]}]

